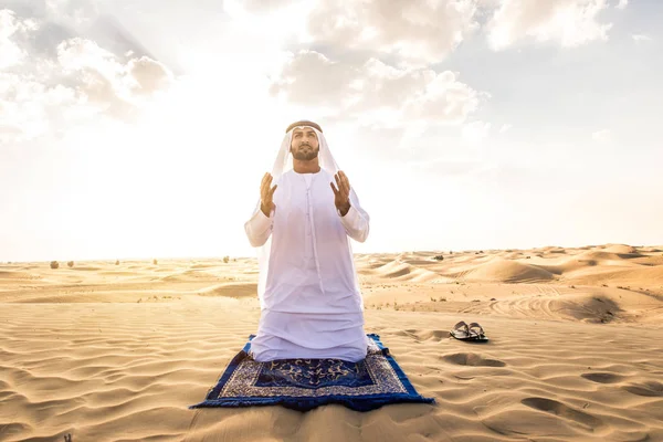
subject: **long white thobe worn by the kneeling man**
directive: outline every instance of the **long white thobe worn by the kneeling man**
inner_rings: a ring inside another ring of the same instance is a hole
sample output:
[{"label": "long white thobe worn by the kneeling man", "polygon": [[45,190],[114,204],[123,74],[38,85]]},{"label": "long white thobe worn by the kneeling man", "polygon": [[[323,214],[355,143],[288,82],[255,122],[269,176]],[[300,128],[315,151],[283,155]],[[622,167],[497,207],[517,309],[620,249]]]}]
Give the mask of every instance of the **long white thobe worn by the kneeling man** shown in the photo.
[{"label": "long white thobe worn by the kneeling man", "polygon": [[369,217],[352,201],[341,217],[324,169],[285,172],[276,209],[244,225],[253,246],[272,236],[261,319],[251,351],[257,361],[286,358],[366,357],[364,303],[348,236],[364,242]]}]

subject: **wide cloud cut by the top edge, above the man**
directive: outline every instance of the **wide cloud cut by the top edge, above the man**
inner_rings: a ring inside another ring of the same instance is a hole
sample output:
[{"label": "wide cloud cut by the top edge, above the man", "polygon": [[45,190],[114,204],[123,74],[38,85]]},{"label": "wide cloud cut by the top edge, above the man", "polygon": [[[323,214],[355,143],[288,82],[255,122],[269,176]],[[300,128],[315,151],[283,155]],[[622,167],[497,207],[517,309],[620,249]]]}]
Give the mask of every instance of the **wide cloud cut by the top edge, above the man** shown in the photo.
[{"label": "wide cloud cut by the top edge, above the man", "polygon": [[[284,7],[287,15],[276,13]],[[440,62],[480,27],[476,0],[229,0],[224,8],[233,18],[267,17],[261,23],[270,33],[288,29],[301,43],[398,55],[410,66]]]}]

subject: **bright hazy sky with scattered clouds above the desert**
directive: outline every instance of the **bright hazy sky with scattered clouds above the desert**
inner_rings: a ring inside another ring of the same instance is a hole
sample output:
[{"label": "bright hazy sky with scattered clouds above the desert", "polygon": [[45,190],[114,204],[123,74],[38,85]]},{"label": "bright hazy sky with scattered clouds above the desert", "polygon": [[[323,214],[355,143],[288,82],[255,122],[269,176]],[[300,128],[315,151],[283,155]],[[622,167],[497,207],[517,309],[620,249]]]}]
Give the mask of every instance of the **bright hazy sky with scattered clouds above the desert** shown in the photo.
[{"label": "bright hazy sky with scattered clouds above the desert", "polygon": [[358,253],[663,244],[657,0],[0,0],[0,261],[255,256],[287,125]]}]

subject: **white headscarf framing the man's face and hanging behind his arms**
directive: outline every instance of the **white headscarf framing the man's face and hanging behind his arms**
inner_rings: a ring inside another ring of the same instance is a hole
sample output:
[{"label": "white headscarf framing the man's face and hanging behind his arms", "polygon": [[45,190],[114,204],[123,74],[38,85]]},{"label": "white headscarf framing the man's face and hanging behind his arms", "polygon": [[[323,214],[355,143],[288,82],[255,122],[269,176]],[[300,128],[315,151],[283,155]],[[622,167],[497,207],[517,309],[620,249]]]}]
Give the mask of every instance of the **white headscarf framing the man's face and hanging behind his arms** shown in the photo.
[{"label": "white headscarf framing the man's face and hanging behind his arms", "polygon": [[[276,156],[276,160],[274,161],[274,166],[272,167],[272,187],[274,187],[274,185],[278,183],[283,173],[293,169],[293,155],[291,152],[293,131],[295,129],[302,129],[304,127],[312,128],[313,130],[315,130],[315,135],[317,136],[318,143],[319,143],[318,164],[319,164],[320,168],[326,170],[327,172],[329,172],[332,176],[335,176],[340,170],[338,168],[338,165],[334,160],[334,157],[332,156],[332,151],[329,150],[329,146],[327,145],[327,140],[325,139],[325,136],[323,135],[323,133],[320,130],[318,130],[317,128],[315,128],[313,126],[306,126],[306,125],[295,126],[285,134],[285,136],[283,137],[283,140],[281,141],[281,148],[278,149],[278,155]],[[335,183],[335,186],[336,186],[336,183]],[[278,191],[278,189],[276,189],[276,191]],[[332,191],[332,189],[329,189],[329,191]],[[350,186],[350,204],[358,206],[357,194],[355,193],[355,190],[351,188],[351,186]],[[257,211],[261,210],[260,206],[261,206],[261,199],[259,197],[257,204],[255,206],[255,210],[253,211],[252,215],[255,215],[257,213]],[[349,236],[347,236],[347,241],[348,241],[348,248],[349,248],[349,251],[351,254],[352,246],[351,246]],[[260,298],[260,303],[261,303],[261,307],[262,307],[262,306],[264,306],[264,294],[265,294],[265,286],[266,286],[269,267],[270,267],[270,251],[272,250],[272,236],[270,235],[267,241],[257,249],[259,249],[257,250],[257,262],[259,262],[259,267],[260,267],[260,276],[259,276],[259,282],[257,282],[257,296]]]}]

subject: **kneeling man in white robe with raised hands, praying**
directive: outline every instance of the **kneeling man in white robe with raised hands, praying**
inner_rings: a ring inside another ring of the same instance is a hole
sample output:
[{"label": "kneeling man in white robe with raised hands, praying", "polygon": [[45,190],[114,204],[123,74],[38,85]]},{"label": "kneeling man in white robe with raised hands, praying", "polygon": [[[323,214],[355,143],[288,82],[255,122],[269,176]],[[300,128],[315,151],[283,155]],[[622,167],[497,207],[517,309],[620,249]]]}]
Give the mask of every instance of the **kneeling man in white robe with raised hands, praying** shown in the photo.
[{"label": "kneeling man in white robe with raised hands, praying", "polygon": [[366,241],[369,215],[319,125],[287,127],[244,230],[260,248],[253,358],[364,359],[368,339],[350,239]]}]

